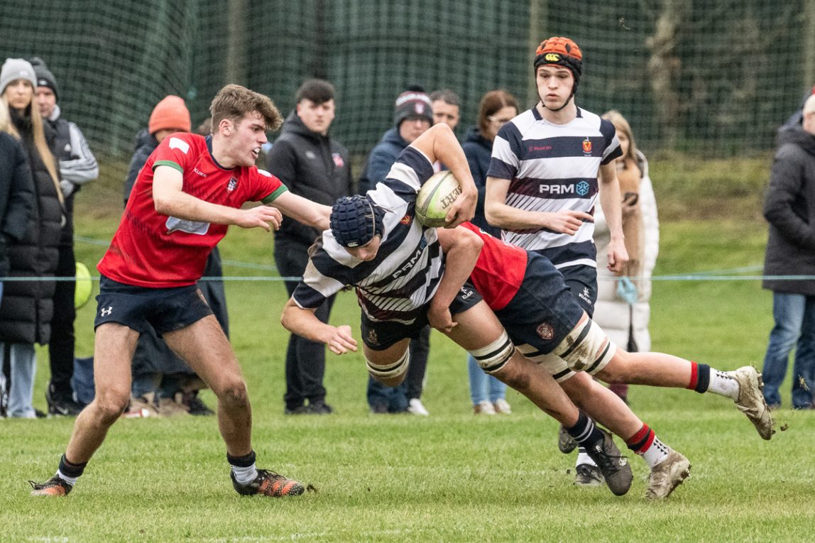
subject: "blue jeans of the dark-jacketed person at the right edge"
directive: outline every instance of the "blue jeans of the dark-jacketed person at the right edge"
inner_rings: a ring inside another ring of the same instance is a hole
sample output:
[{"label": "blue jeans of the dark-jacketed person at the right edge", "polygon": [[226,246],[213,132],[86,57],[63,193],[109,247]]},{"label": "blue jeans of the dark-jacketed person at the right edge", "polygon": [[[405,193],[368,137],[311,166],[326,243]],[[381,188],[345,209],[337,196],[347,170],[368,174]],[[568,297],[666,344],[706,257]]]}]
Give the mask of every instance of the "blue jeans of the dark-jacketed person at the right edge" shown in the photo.
[{"label": "blue jeans of the dark-jacketed person at the right edge", "polygon": [[764,400],[781,404],[778,392],[786,376],[790,351],[795,346],[792,367],[792,407],[808,408],[813,403],[815,386],[815,296],[773,293],[775,326],[769,334],[764,356]]}]

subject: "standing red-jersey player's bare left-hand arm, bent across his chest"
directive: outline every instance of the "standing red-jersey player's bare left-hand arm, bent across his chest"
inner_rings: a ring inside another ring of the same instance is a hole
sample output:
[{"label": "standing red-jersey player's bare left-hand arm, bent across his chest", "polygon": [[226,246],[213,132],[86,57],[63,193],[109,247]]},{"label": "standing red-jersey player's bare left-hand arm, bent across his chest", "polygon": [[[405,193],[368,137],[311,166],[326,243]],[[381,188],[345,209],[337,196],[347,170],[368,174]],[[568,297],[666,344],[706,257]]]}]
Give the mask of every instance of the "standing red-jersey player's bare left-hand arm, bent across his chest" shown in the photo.
[{"label": "standing red-jersey player's bare left-hand arm, bent across his chest", "polygon": [[280,227],[283,216],[268,205],[236,210],[227,205],[203,201],[183,192],[183,176],[170,166],[158,166],[153,176],[153,205],[163,215],[187,221],[236,224],[243,228],[261,227],[267,232]]}]

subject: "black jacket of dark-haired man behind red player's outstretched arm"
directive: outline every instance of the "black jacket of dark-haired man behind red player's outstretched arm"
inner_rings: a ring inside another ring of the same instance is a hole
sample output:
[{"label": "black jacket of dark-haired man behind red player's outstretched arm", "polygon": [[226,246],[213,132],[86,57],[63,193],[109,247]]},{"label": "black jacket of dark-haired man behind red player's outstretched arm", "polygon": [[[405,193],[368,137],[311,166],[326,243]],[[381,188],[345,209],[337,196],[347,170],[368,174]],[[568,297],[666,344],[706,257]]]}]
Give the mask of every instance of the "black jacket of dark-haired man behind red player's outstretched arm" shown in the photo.
[{"label": "black jacket of dark-haired man behind red player's outstretched arm", "polygon": [[[297,113],[286,119],[283,132],[267,156],[267,170],[293,194],[318,204],[334,205],[353,190],[348,151],[336,139],[312,132]],[[275,245],[311,245],[319,236],[316,228],[284,219],[275,232]]]}]

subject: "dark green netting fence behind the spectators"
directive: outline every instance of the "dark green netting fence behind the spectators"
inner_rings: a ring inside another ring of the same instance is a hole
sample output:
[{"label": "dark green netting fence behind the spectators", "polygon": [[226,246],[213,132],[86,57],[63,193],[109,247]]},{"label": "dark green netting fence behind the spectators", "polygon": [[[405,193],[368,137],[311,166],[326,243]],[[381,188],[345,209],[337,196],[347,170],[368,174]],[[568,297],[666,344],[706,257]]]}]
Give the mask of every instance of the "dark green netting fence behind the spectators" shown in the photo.
[{"label": "dark green netting fence behind the spectators", "polygon": [[815,0],[0,0],[0,57],[46,60],[64,117],[121,157],[167,94],[194,123],[227,82],[285,113],[315,76],[337,86],[333,135],[355,154],[412,83],[461,96],[463,135],[486,91],[534,103],[532,50],[550,35],[584,50],[578,104],[619,109],[649,152],[769,150],[815,84]]}]

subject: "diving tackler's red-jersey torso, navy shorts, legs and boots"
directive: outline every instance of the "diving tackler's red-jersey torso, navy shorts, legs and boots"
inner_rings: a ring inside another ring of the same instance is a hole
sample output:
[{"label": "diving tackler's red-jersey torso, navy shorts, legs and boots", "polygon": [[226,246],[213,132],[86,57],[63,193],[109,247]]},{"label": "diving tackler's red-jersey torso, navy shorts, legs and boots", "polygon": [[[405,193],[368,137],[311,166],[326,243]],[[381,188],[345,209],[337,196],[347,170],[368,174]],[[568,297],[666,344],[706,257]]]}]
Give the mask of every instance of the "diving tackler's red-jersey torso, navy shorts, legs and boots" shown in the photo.
[{"label": "diving tackler's red-jersey torso, navy shorts, legs and boots", "polygon": [[[663,444],[623,400],[587,373],[605,382],[689,388],[728,397],[763,439],[772,437],[773,418],[755,368],[722,372],[673,355],[617,349],[580,307],[548,258],[500,241],[471,223],[459,229],[482,241],[469,280],[518,351],[547,369],[575,404],[623,437],[628,448],[645,460],[651,469],[646,497],[670,495],[688,475],[689,461]],[[444,239],[442,248],[446,249]]]}]

